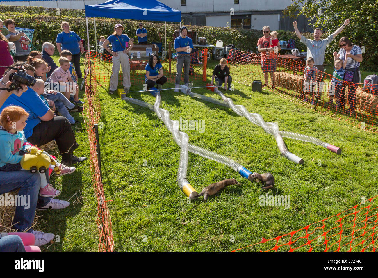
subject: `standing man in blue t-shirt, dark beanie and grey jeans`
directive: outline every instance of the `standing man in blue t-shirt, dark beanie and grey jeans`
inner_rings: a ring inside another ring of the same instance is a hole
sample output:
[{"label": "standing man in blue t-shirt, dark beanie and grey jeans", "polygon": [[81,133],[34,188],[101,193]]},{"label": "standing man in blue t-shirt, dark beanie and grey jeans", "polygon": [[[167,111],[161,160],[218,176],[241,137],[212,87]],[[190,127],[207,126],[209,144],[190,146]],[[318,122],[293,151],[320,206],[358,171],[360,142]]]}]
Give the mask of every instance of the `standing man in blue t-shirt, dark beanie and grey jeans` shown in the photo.
[{"label": "standing man in blue t-shirt, dark beanie and grey jeans", "polygon": [[184,84],[189,87],[189,69],[190,69],[190,53],[193,50],[193,41],[186,36],[187,28],[180,28],[180,36],[175,39],[175,50],[177,51],[177,73],[175,80],[175,92],[178,92],[181,81],[181,71],[184,66]]}]

